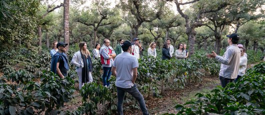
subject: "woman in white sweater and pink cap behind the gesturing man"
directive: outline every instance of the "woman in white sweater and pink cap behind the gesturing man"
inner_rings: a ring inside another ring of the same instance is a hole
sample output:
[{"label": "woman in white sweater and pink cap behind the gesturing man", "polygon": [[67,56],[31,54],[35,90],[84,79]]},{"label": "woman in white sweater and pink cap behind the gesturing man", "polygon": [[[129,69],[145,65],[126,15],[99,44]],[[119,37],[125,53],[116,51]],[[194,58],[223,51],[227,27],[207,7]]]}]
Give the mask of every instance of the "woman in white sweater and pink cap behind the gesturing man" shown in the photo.
[{"label": "woman in white sweater and pink cap behind the gesturing man", "polygon": [[244,47],[240,47],[239,71],[238,71],[237,77],[234,80],[234,82],[236,82],[241,76],[243,76],[245,74],[247,58],[245,57],[244,52],[245,52],[245,48]]}]

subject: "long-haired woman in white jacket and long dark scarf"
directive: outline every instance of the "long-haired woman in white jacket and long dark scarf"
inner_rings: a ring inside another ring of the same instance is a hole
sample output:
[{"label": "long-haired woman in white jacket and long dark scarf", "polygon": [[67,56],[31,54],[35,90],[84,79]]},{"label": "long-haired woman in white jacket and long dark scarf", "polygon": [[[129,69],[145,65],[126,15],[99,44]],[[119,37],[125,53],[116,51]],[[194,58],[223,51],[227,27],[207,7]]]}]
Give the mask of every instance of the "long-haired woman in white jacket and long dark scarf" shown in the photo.
[{"label": "long-haired woman in white jacket and long dark scarf", "polygon": [[92,61],[90,52],[87,48],[86,42],[79,43],[79,50],[74,53],[71,63],[76,66],[76,72],[79,77],[79,89],[84,83],[93,81],[92,78]]}]

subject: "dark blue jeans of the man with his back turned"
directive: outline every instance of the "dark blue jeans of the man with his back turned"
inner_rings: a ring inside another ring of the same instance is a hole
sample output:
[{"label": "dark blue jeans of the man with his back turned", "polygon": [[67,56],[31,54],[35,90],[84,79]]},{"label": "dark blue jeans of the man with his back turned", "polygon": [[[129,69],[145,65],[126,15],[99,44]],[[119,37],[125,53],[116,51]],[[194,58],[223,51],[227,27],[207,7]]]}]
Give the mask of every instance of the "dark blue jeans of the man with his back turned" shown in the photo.
[{"label": "dark blue jeans of the man with his back turned", "polygon": [[130,93],[138,101],[138,103],[140,104],[140,109],[142,111],[142,114],[148,114],[143,96],[137,89],[136,84],[134,84],[131,88],[121,88],[118,86],[116,87],[117,87],[117,96],[118,96],[118,102],[117,102],[118,114],[121,114],[121,115],[123,114],[122,104],[123,104],[123,97],[124,97],[125,92]]}]

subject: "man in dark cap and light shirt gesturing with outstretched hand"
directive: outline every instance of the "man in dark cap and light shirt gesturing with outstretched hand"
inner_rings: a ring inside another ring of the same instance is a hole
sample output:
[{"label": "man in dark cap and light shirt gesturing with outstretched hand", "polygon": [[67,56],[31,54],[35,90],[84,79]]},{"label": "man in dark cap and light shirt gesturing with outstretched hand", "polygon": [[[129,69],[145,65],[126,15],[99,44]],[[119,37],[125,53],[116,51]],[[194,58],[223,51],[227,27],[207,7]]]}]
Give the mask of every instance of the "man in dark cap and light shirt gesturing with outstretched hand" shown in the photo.
[{"label": "man in dark cap and light shirt gesturing with outstretched hand", "polygon": [[206,54],[207,57],[215,58],[221,63],[219,79],[222,87],[225,87],[226,84],[232,82],[237,77],[240,61],[240,49],[237,47],[239,36],[236,33],[226,36],[228,37],[227,43],[229,46],[226,47],[223,56],[217,55],[214,51]]}]

